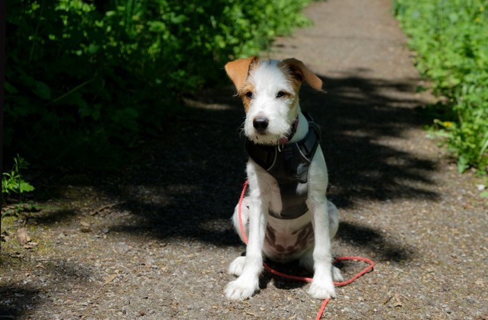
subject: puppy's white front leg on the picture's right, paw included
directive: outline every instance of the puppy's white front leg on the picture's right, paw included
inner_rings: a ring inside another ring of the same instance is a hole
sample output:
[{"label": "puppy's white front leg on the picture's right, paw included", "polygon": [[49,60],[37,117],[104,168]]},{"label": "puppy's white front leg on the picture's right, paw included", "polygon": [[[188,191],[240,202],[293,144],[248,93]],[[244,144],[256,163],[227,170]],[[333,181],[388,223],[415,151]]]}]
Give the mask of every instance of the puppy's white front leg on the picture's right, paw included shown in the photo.
[{"label": "puppy's white front leg on the picture's right, paw included", "polygon": [[314,277],[308,293],[319,299],[335,297],[330,253],[329,216],[326,197],[309,199],[307,205],[312,213],[314,226]]}]

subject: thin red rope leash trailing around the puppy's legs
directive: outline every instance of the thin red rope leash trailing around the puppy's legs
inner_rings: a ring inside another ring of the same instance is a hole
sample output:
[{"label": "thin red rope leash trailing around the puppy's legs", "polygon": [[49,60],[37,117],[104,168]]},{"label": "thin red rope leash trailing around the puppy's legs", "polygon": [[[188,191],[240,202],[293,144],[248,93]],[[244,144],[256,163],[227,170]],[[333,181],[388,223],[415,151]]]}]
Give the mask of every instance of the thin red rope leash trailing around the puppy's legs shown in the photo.
[{"label": "thin red rope leash trailing around the puppy's legs", "polygon": [[[241,229],[241,234],[243,235],[243,241],[246,245],[247,245],[247,236],[245,235],[245,231],[244,231],[244,225],[243,225],[243,219],[242,219],[242,208],[241,207],[242,207],[243,199],[245,196],[245,190],[247,189],[247,183],[248,183],[248,181],[246,180],[244,182],[243,191],[241,192],[241,198],[239,199],[239,204],[238,204],[238,208],[237,208],[238,218],[239,218],[239,229]],[[334,282],[334,284],[337,287],[343,287],[343,286],[346,286],[347,284],[350,284],[351,282],[354,282],[354,280],[358,279],[359,277],[361,277],[365,273],[372,271],[373,267],[374,267],[373,261],[371,261],[367,258],[362,258],[362,257],[349,257],[349,256],[348,257],[338,257],[333,261],[333,264],[335,264],[339,261],[362,261],[362,262],[365,262],[366,264],[368,264],[368,266],[366,266],[358,274],[351,277],[349,280],[342,281],[342,282]],[[265,263],[263,263],[263,266],[268,272],[272,273],[273,275],[277,275],[279,277],[284,277],[287,279],[298,280],[298,281],[303,281],[303,282],[312,282],[311,277],[297,277],[296,275],[287,275],[286,273],[281,273],[280,271],[276,271],[275,269],[271,268],[270,266],[268,266]],[[330,298],[323,300],[323,303],[319,309],[319,312],[317,313],[317,317],[315,317],[315,320],[319,320],[322,317],[323,311],[326,310],[326,305],[328,304],[329,301],[330,301]]]}]

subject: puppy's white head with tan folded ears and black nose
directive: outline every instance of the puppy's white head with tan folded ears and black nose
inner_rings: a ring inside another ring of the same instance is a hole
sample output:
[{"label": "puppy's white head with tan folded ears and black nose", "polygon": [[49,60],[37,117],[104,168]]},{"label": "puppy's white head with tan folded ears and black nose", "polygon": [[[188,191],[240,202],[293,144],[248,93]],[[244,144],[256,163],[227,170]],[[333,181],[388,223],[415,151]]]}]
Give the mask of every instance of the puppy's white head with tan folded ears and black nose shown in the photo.
[{"label": "puppy's white head with tan folded ears and black nose", "polygon": [[278,144],[288,137],[298,116],[302,82],[321,90],[322,81],[302,61],[261,61],[257,56],[225,65],[246,112],[244,132],[255,144]]}]

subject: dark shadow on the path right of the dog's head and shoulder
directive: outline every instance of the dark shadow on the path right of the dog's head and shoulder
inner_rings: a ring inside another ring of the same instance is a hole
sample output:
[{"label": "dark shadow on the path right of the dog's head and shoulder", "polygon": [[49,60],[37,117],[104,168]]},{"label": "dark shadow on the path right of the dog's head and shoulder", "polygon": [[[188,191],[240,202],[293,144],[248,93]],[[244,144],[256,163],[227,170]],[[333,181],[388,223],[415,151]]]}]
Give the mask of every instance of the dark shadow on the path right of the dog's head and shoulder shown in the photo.
[{"label": "dark shadow on the path right of the dog's head and shoulder", "polygon": [[412,144],[406,131],[422,125],[414,109],[422,102],[411,98],[415,79],[321,78],[328,93],[305,86],[307,100],[302,101],[321,125],[330,183],[338,188],[333,191],[337,206],[437,199],[429,178],[436,163],[398,148]]}]

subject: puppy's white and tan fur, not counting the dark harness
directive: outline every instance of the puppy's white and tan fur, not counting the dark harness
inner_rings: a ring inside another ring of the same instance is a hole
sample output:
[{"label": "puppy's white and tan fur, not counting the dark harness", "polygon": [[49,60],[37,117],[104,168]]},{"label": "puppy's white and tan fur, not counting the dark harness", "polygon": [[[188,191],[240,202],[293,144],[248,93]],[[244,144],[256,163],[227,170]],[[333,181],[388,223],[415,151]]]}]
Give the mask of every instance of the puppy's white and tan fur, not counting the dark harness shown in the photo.
[{"label": "puppy's white and tan fur, not counting the dark harness", "polygon": [[[225,69],[243,99],[244,132],[248,139],[255,144],[279,144],[289,135],[297,116],[298,128],[288,143],[298,142],[307,135],[308,123],[300,111],[298,91],[303,81],[320,90],[321,80],[301,61],[259,61],[252,56],[227,63]],[[266,130],[256,128],[255,119],[266,119]],[[309,294],[314,298],[335,296],[333,279],[342,280],[342,277],[331,265],[330,240],[339,222],[337,208],[326,199],[328,175],[320,146],[308,172],[309,211],[300,218],[281,220],[268,215],[270,208],[275,213],[282,211],[280,190],[275,178],[252,159],[247,162],[247,178],[249,193],[241,206],[247,250],[245,257],[236,258],[229,267],[229,273],[238,278],[227,285],[227,298],[243,300],[259,289],[263,255],[282,262],[298,259],[302,266],[314,272]],[[233,222],[243,239],[237,206]]]}]

